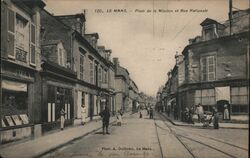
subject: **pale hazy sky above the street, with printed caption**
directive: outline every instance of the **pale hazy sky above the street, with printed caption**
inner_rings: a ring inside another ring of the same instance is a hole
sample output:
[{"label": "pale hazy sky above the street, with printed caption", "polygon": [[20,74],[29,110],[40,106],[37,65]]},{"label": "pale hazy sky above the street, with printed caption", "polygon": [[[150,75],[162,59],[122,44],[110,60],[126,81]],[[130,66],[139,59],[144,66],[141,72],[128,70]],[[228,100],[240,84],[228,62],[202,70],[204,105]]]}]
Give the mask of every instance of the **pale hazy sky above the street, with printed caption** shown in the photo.
[{"label": "pale hazy sky above the street, with printed caption", "polygon": [[[201,35],[206,18],[228,19],[229,0],[44,0],[54,15],[83,13],[86,33],[98,33],[98,45],[112,49],[127,68],[139,91],[155,96],[175,65],[188,39]],[[235,9],[247,9],[248,0],[233,0]],[[127,12],[114,12],[114,10]],[[165,12],[159,12],[159,10]],[[190,12],[190,9],[203,12]],[[109,12],[111,10],[111,12]],[[156,12],[153,12],[156,10]]]}]

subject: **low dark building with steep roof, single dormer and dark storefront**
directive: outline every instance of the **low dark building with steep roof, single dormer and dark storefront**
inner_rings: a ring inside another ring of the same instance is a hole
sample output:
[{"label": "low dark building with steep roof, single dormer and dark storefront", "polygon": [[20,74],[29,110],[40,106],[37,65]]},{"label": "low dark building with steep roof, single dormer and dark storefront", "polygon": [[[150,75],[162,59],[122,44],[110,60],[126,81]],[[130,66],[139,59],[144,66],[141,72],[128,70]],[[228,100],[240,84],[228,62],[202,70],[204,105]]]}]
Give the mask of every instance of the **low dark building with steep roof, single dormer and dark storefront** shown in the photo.
[{"label": "low dark building with steep roof, single dormer and dark storefront", "polygon": [[40,84],[42,131],[59,128],[63,109],[65,125],[74,121],[74,86],[76,73],[72,66],[73,30],[46,10],[41,11],[41,71]]}]

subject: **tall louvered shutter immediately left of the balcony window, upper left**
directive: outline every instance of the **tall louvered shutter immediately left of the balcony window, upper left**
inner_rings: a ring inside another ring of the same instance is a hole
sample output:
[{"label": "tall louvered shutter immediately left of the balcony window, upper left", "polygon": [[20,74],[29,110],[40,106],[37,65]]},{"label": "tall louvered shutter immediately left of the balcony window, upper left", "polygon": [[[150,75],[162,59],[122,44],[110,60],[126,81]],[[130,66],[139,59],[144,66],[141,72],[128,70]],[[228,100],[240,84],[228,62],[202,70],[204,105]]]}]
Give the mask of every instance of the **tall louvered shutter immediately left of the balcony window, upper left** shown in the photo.
[{"label": "tall louvered shutter immediately left of the balcony window, upper left", "polygon": [[8,25],[8,39],[7,39],[7,52],[11,57],[15,57],[14,42],[15,42],[15,13],[8,9],[7,13]]}]

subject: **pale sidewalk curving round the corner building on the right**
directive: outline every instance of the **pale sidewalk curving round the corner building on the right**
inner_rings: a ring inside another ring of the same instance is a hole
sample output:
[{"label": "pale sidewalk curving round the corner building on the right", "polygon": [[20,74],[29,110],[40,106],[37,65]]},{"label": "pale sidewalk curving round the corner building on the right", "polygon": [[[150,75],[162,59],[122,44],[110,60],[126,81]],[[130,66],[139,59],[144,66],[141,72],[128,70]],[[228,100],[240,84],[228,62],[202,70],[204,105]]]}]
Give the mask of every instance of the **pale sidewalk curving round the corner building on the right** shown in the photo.
[{"label": "pale sidewalk curving round the corner building on the right", "polygon": [[[175,126],[190,126],[190,127],[202,127],[202,123],[197,123],[195,122],[195,124],[189,124],[186,122],[182,122],[180,120],[174,120],[173,117],[168,117],[166,113],[161,113],[162,115],[165,116],[165,118],[167,120],[169,120],[173,125]],[[213,126],[212,124],[210,124],[210,126]],[[243,124],[243,123],[220,123],[219,122],[219,126],[220,128],[228,128],[228,129],[249,129],[249,125],[248,124]]]}]

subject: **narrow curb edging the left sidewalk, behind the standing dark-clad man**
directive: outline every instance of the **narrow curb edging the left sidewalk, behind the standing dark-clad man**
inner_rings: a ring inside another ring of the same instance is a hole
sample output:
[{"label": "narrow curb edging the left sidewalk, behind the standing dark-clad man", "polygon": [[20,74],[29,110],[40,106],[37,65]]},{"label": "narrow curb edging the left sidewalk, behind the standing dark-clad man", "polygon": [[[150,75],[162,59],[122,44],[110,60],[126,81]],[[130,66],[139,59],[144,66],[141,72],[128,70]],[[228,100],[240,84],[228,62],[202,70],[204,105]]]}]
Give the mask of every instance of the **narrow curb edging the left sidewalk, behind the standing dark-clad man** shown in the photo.
[{"label": "narrow curb edging the left sidewalk, behind the standing dark-clad man", "polygon": [[[112,122],[110,123],[111,126],[113,126],[113,123],[114,123],[114,122],[115,122],[115,121],[112,121]],[[83,134],[83,135],[81,135],[81,136],[79,136],[79,137],[76,137],[76,138],[73,138],[73,139],[71,139],[71,140],[68,140],[68,141],[66,141],[66,142],[64,142],[64,143],[62,143],[62,144],[60,144],[60,145],[58,145],[58,146],[55,146],[55,147],[53,147],[53,148],[51,148],[51,149],[48,149],[47,151],[41,152],[40,154],[34,155],[34,156],[32,156],[32,157],[34,157],[34,158],[40,158],[40,157],[42,157],[42,156],[45,156],[46,154],[49,154],[50,152],[56,151],[57,149],[60,149],[61,147],[70,144],[71,142],[74,142],[74,141],[76,141],[76,140],[82,139],[83,137],[86,137],[87,135],[89,135],[89,134],[91,134],[91,133],[93,133],[93,132],[96,132],[96,131],[98,131],[98,130],[100,130],[100,129],[102,129],[102,127],[99,127],[99,128],[94,129],[94,130],[92,130],[92,131],[89,131],[89,132],[87,132],[87,133],[85,133],[85,134]]]}]

